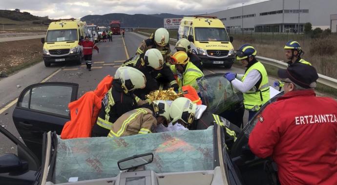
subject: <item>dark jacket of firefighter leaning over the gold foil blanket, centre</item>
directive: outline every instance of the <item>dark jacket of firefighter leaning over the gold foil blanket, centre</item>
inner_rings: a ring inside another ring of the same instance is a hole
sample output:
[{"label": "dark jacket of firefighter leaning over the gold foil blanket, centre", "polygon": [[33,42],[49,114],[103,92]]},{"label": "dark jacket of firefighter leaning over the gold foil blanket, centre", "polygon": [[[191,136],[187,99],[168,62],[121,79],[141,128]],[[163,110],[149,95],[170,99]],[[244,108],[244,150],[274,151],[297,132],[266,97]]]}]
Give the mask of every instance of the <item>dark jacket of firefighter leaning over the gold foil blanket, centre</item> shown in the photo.
[{"label": "dark jacket of firefighter leaning over the gold foil blanket, centre", "polygon": [[[138,97],[145,99],[145,95],[149,94],[151,91],[160,89],[160,82],[165,82],[170,85],[170,87],[178,90],[178,83],[175,80],[171,69],[169,69],[166,64],[164,64],[163,69],[156,70],[149,66],[146,66],[144,61],[144,55],[135,55],[132,58],[126,60],[122,66],[129,66],[140,70],[146,77],[146,86],[144,89],[135,90],[134,94]],[[156,79],[156,80],[155,80]],[[164,79],[164,80],[163,80]]]}]

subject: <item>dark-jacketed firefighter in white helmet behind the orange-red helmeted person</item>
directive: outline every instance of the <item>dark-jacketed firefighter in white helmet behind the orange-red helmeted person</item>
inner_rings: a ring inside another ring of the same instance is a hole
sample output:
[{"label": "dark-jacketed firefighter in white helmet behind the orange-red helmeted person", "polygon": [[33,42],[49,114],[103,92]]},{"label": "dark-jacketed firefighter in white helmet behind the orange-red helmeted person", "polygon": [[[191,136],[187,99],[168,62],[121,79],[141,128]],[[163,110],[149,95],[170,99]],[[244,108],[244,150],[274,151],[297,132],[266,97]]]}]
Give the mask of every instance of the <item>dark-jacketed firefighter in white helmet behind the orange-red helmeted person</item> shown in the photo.
[{"label": "dark-jacketed firefighter in white helmet behind the orange-red helmeted person", "polygon": [[192,53],[190,41],[182,38],[180,39],[174,47],[177,51],[184,51],[187,53],[187,56],[190,58],[190,62],[193,63],[197,68],[199,68],[202,71],[202,61],[198,57],[198,55]]}]

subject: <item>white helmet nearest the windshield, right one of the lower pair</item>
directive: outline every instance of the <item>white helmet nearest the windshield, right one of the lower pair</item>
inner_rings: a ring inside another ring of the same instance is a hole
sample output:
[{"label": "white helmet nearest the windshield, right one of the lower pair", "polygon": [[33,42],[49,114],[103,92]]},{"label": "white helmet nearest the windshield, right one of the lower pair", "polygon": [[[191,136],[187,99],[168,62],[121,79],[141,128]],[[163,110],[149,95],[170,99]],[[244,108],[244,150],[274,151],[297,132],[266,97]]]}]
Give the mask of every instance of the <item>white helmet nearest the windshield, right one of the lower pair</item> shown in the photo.
[{"label": "white helmet nearest the windshield, right one of the lower pair", "polygon": [[189,98],[179,97],[172,102],[169,109],[169,116],[172,118],[172,123],[180,119],[186,124],[192,124],[195,111],[195,103],[193,103]]}]

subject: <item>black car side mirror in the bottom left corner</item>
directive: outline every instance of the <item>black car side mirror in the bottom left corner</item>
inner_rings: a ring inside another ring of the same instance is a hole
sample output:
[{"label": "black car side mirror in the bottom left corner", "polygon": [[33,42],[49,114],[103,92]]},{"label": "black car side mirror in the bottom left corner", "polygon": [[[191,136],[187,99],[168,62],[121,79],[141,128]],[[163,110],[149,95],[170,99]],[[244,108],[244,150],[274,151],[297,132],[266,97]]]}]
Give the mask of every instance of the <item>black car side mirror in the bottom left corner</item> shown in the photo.
[{"label": "black car side mirror in the bottom left corner", "polygon": [[5,154],[0,157],[0,173],[20,172],[28,169],[28,162],[21,162],[14,154]]}]

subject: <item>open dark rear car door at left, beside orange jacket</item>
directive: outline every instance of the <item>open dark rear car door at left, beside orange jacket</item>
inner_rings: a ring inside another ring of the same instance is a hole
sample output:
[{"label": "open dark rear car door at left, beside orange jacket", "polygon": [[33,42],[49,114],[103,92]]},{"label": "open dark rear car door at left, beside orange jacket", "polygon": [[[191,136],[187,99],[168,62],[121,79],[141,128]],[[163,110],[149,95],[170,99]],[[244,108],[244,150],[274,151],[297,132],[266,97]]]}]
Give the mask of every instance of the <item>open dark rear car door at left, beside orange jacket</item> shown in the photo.
[{"label": "open dark rear car door at left, beside orange jacket", "polygon": [[42,134],[56,131],[70,120],[68,104],[77,99],[78,84],[45,82],[25,88],[13,112],[13,121],[26,146],[41,159]]}]

